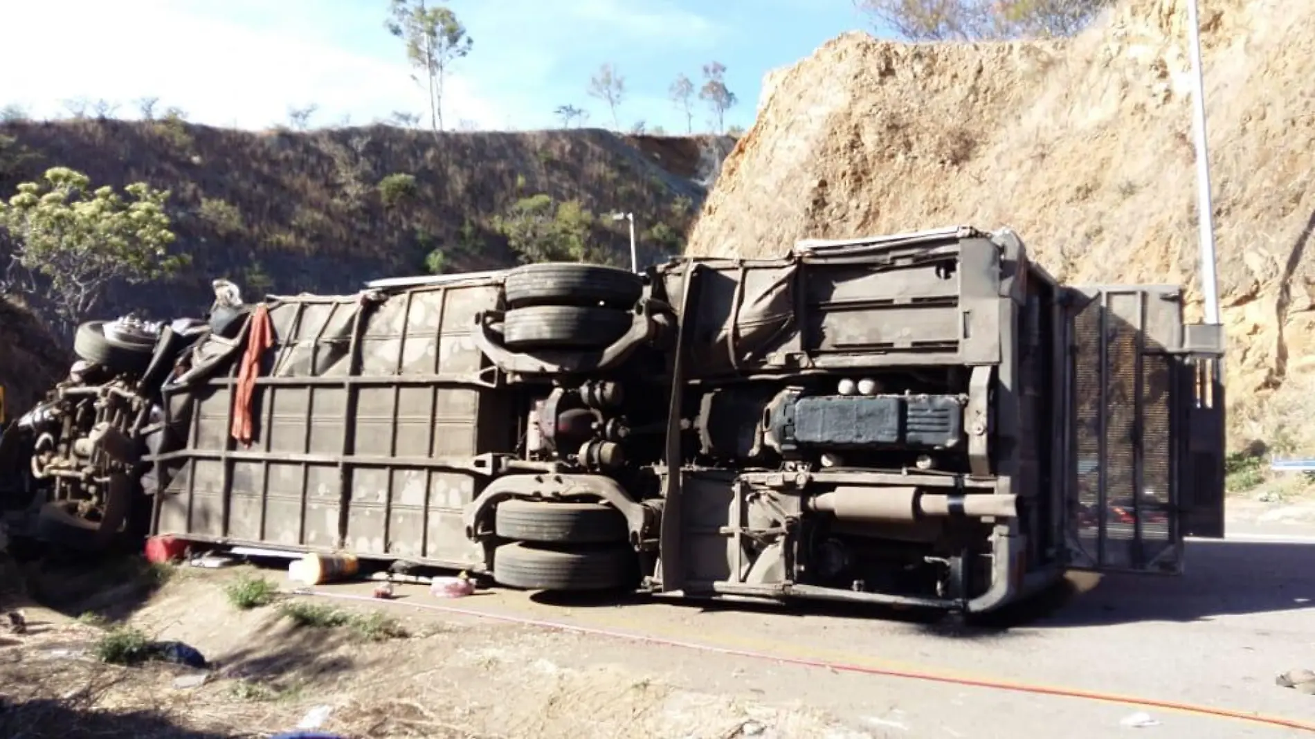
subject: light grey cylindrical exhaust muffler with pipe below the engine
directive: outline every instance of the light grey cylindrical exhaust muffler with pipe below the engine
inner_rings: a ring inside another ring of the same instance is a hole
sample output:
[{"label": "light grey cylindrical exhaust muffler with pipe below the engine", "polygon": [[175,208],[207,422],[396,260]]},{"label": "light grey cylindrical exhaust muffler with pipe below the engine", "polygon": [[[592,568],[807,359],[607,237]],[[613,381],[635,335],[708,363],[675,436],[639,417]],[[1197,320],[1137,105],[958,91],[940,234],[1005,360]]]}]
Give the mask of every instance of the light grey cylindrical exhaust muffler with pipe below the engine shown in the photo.
[{"label": "light grey cylindrical exhaust muffler with pipe below the engine", "polygon": [[948,515],[1014,518],[1018,515],[1018,496],[931,493],[913,487],[840,487],[809,498],[806,506],[842,521],[911,522]]}]

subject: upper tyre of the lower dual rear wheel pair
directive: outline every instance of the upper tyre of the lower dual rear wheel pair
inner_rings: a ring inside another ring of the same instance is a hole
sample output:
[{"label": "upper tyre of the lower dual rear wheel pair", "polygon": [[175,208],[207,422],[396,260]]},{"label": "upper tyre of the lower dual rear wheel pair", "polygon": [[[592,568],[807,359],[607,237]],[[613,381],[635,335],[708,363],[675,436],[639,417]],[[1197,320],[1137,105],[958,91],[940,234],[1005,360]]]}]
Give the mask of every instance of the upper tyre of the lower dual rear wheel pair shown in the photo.
[{"label": "upper tyre of the lower dual rear wheel pair", "polygon": [[548,544],[630,540],[626,517],[600,502],[502,501],[493,513],[493,531],[502,539]]}]

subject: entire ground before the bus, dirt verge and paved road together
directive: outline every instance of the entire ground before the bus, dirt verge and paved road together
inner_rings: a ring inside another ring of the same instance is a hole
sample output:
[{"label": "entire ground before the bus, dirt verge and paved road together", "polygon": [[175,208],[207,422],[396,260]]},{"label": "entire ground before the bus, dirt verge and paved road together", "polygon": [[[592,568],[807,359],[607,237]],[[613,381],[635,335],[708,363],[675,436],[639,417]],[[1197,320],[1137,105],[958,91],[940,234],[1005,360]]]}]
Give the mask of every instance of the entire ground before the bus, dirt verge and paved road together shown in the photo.
[{"label": "entire ground before the bus, dirt verge and paved road together", "polygon": [[[368,581],[241,610],[230,584],[260,576],[291,588],[284,572],[139,558],[11,564],[0,611],[21,606],[29,630],[9,634],[0,618],[0,736],[270,736],[317,711],[322,731],[354,738],[1016,739],[1057,725],[1103,738],[1126,735],[1122,722],[1137,713],[1160,739],[1301,735],[1127,700],[956,682],[1308,719],[1315,698],[1273,680],[1315,667],[1315,504],[1232,501],[1228,527],[1235,540],[1189,543],[1181,577],[1074,575],[1053,598],[967,630],[834,605],[506,589],[451,601],[421,585],[398,585],[385,604],[368,598]],[[334,627],[297,626],[289,602],[347,615]],[[97,661],[124,627],[200,650],[205,682],[184,685],[196,671],[174,664]]]}]

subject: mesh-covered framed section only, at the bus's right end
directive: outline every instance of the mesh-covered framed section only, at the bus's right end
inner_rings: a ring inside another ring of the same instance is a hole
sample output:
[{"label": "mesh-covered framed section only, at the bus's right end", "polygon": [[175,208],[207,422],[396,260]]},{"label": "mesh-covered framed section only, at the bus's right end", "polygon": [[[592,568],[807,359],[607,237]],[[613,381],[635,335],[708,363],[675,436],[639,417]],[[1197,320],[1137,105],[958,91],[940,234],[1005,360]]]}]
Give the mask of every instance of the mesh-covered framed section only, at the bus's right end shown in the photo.
[{"label": "mesh-covered framed section only, at the bus's right end", "polygon": [[1072,316],[1069,559],[1074,567],[1177,572],[1182,535],[1178,359],[1161,343],[1181,304],[1094,288]]}]

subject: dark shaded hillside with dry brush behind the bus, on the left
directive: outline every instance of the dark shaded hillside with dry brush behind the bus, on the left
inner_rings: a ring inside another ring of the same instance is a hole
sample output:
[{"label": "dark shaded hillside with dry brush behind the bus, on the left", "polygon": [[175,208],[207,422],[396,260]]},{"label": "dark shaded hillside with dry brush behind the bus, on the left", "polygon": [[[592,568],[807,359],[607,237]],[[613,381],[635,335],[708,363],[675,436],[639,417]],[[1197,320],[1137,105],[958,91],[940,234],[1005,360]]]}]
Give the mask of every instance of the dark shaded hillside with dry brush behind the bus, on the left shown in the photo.
[{"label": "dark shaded hillside with dry brush behind the bus, on the left", "polygon": [[[368,126],[309,133],[242,131],[183,121],[72,120],[0,125],[0,193],[62,164],[95,184],[167,188],[187,272],[150,291],[112,291],[97,313],[156,317],[204,310],[209,283],[226,276],[250,292],[354,291],[363,280],[515,263],[493,227],[535,195],[579,200],[597,216],[594,242],[629,260],[625,222],[635,213],[640,259],[679,252],[705,184],[730,149],[718,137],[635,137],[577,129],[433,133]],[[414,176],[400,197],[389,175]]]}]

